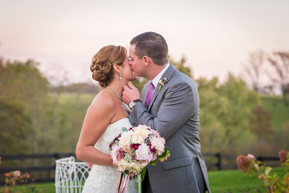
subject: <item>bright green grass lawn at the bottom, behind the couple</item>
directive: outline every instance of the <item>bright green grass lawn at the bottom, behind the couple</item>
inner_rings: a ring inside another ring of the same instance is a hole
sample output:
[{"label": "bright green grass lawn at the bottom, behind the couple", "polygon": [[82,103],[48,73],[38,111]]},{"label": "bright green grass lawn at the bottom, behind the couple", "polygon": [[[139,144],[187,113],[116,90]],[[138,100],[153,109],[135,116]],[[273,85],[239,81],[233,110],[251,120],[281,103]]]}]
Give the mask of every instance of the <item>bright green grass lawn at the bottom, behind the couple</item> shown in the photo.
[{"label": "bright green grass lawn at the bottom, behind the couple", "polygon": [[[270,174],[276,172],[279,176],[283,176],[285,173],[284,167],[274,167]],[[262,183],[256,176],[251,178],[244,174],[240,170],[223,170],[223,171],[209,171],[209,183],[212,193],[222,190],[222,192],[227,192],[228,188],[231,189],[233,193],[243,192],[243,187],[246,186],[250,188],[250,191],[253,192],[255,188],[263,188]],[[49,192],[54,193],[55,187],[54,183],[39,183],[35,184],[38,192]],[[18,190],[23,190],[24,185],[17,186]]]}]

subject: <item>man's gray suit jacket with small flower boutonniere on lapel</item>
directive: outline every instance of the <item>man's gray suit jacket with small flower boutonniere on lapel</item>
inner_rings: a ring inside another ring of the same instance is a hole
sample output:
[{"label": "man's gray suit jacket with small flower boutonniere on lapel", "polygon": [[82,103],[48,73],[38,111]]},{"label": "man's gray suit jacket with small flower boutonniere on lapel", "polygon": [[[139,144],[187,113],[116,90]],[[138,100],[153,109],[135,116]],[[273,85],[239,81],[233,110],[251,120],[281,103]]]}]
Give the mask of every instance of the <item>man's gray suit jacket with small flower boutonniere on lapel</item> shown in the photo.
[{"label": "man's gray suit jacket with small flower boutonniere on lapel", "polygon": [[207,168],[201,154],[199,139],[199,93],[194,82],[170,63],[162,78],[168,82],[157,87],[148,110],[145,97],[148,84],[141,91],[142,103],[137,103],[129,115],[132,126],[148,125],[166,139],[171,156],[147,171],[154,193],[210,193]]}]

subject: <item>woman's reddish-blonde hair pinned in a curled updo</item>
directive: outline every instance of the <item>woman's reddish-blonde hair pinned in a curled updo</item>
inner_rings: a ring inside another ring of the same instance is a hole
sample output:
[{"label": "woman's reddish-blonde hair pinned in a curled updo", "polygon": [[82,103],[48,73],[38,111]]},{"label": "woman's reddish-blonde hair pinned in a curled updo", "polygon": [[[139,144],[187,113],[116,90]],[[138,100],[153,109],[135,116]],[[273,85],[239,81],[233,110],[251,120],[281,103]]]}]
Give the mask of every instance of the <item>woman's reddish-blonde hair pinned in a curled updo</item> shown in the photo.
[{"label": "woman's reddish-blonde hair pinned in a curled updo", "polygon": [[122,65],[126,59],[127,50],[123,46],[104,46],[92,58],[90,70],[92,78],[101,87],[106,87],[114,77],[113,64]]}]

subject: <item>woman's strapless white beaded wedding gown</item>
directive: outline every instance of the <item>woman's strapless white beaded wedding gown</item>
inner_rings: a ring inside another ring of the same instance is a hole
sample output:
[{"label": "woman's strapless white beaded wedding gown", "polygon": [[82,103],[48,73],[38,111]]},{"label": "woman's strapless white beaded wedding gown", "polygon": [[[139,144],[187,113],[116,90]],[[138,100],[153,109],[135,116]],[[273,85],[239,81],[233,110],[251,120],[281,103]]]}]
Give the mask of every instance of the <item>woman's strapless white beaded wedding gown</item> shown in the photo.
[{"label": "woman's strapless white beaded wedding gown", "polygon": [[[128,118],[120,119],[119,121],[108,125],[107,129],[98,139],[94,147],[101,152],[109,154],[109,142],[112,141],[115,136],[121,133],[123,127],[132,127]],[[89,172],[88,178],[85,180],[82,193],[113,193],[116,172],[117,169],[110,166],[93,165]],[[135,192],[137,192],[136,182],[135,180],[129,180],[126,193]]]}]

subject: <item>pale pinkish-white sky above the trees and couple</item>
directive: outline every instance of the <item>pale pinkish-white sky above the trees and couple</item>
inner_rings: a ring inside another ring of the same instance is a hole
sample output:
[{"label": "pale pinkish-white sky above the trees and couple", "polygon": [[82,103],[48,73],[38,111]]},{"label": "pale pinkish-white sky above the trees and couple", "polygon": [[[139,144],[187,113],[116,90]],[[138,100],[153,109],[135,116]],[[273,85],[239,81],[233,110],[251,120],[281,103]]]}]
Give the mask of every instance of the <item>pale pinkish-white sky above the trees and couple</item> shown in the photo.
[{"label": "pale pinkish-white sky above the trees and couple", "polygon": [[222,81],[228,72],[242,74],[256,49],[289,51],[288,8],[288,0],[0,0],[0,56],[34,59],[45,76],[87,82],[101,47],[129,48],[133,37],[154,31],[172,58],[186,57],[195,78]]}]

